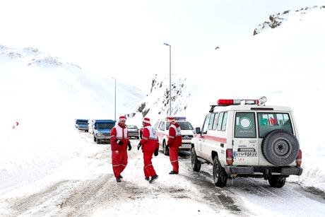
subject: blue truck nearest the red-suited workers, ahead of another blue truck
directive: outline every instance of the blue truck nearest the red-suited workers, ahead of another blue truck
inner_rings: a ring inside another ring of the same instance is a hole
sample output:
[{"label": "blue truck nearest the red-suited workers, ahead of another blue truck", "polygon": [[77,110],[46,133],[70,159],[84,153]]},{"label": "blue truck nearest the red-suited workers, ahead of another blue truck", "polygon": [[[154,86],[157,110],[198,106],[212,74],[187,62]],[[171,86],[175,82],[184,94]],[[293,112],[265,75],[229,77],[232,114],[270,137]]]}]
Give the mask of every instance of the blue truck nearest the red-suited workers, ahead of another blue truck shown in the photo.
[{"label": "blue truck nearest the red-suited workers, ahead of another blue truck", "polygon": [[94,141],[100,143],[101,141],[107,141],[110,143],[110,132],[115,126],[115,122],[112,119],[93,119],[92,128]]}]

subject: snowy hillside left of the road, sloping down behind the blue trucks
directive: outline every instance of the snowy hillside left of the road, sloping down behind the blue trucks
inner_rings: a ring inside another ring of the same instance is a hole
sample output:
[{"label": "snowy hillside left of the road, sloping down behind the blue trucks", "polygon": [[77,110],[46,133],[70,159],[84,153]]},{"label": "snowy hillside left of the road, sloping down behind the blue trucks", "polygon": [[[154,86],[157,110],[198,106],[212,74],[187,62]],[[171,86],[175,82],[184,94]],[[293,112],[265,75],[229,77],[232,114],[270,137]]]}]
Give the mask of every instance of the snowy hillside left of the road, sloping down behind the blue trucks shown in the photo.
[{"label": "snowy hillside left of the road, sloping down behind the blue trucks", "polygon": [[[143,97],[117,82],[117,116]],[[0,99],[0,190],[43,176],[81,153],[88,144],[74,119],[114,119],[113,79],[34,48],[0,46]]]}]

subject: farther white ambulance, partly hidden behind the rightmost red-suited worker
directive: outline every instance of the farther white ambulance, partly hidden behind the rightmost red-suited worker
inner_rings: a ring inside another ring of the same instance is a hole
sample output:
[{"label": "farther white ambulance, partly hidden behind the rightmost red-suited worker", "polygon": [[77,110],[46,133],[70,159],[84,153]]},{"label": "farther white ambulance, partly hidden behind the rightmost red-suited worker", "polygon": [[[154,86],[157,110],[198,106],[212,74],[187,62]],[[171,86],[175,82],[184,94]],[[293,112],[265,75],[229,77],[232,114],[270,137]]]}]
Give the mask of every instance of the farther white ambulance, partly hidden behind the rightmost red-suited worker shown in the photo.
[{"label": "farther white ambulance, partly hidden behind the rightmost red-suited worker", "polygon": [[[187,121],[186,117],[175,117],[175,122],[177,122],[179,127],[181,127],[182,134],[182,146],[179,147],[179,151],[190,151],[191,139],[194,135],[194,128],[192,127],[191,123]],[[168,141],[170,123],[167,122],[167,119],[158,120],[153,128],[157,131],[160,147],[164,151],[165,156],[168,156],[169,150],[166,148],[166,145]]]}]

